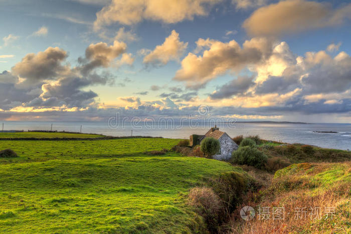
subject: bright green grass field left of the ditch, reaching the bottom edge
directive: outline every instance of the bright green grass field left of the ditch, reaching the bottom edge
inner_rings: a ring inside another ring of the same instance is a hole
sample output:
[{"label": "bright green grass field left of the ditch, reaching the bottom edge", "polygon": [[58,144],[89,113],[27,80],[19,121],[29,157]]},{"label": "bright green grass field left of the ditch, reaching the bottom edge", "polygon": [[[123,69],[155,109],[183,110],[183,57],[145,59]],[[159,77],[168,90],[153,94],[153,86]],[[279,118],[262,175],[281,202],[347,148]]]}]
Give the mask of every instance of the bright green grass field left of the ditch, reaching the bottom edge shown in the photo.
[{"label": "bright green grass field left of the ditch, reaching the bottom edge", "polygon": [[176,153],[176,139],[0,141],[0,232],[196,232],[186,194],[242,169]]}]

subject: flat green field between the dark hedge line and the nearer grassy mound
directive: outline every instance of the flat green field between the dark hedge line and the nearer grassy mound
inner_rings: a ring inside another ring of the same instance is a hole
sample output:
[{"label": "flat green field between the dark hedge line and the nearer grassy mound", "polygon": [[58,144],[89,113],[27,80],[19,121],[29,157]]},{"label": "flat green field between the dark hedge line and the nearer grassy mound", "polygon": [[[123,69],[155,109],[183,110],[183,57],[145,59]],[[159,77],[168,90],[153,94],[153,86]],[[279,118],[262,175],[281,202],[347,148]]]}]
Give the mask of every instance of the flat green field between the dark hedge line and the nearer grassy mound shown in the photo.
[{"label": "flat green field between the dark hedge line and the nearer grassy mound", "polygon": [[0,150],[13,149],[19,156],[12,159],[0,158],[0,163],[135,156],[145,151],[170,149],[179,141],[162,138],[122,138],[101,141],[0,141]]}]

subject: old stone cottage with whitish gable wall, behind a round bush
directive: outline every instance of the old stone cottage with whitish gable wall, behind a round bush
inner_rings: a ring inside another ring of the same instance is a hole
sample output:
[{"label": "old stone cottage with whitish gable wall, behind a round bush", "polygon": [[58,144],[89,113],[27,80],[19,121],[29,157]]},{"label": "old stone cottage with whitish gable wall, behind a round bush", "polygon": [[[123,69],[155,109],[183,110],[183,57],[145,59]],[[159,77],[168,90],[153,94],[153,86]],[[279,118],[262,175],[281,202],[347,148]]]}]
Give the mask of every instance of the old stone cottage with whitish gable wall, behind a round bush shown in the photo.
[{"label": "old stone cottage with whitish gable wall, behind a round bush", "polygon": [[211,128],[205,135],[191,135],[190,145],[200,145],[201,141],[207,137],[213,137],[214,139],[219,140],[221,144],[220,152],[213,156],[214,159],[230,160],[232,157],[232,152],[238,149],[238,145],[233,141],[233,139],[230,138],[227,133],[219,131],[217,126],[215,126],[215,128]]}]

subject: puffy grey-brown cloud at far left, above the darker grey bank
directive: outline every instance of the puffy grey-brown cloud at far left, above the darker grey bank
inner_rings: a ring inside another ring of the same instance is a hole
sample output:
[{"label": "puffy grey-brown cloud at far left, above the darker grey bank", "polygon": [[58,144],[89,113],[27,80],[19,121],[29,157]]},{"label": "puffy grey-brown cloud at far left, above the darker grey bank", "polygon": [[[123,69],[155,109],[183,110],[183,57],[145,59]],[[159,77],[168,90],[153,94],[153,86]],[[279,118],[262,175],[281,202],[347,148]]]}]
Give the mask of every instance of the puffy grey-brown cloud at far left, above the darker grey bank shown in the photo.
[{"label": "puffy grey-brown cloud at far left, above the darker grey bank", "polygon": [[27,54],[12,68],[12,72],[14,75],[25,78],[27,82],[52,80],[69,70],[67,66],[61,64],[67,56],[67,52],[63,49],[49,47],[44,52]]}]

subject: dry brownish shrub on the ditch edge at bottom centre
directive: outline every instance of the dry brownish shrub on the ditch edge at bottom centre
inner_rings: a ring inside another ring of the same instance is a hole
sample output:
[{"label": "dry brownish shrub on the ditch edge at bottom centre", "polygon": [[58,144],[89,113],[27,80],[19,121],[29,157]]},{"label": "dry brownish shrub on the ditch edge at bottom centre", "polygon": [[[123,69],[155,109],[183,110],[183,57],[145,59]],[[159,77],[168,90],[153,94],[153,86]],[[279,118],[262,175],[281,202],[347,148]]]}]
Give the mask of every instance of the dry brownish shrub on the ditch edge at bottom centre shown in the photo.
[{"label": "dry brownish shrub on the ditch edge at bottom centre", "polygon": [[216,233],[223,210],[219,196],[211,188],[195,187],[189,192],[188,204],[204,217],[209,231]]}]

